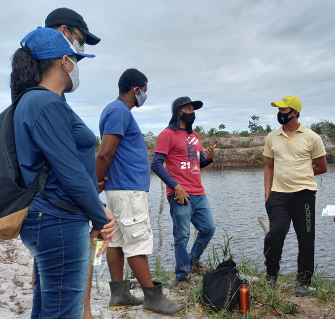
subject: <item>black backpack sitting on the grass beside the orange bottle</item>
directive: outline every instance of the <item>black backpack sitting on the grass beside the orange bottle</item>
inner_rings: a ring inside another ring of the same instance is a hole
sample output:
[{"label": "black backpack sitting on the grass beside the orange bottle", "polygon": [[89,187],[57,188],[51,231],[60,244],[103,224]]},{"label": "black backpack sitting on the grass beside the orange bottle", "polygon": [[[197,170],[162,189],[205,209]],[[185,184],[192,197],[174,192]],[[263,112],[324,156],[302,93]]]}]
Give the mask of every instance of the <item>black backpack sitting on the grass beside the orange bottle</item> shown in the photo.
[{"label": "black backpack sitting on the grass beside the orange bottle", "polygon": [[203,276],[202,301],[212,310],[234,309],[239,302],[240,280],[232,259]]}]

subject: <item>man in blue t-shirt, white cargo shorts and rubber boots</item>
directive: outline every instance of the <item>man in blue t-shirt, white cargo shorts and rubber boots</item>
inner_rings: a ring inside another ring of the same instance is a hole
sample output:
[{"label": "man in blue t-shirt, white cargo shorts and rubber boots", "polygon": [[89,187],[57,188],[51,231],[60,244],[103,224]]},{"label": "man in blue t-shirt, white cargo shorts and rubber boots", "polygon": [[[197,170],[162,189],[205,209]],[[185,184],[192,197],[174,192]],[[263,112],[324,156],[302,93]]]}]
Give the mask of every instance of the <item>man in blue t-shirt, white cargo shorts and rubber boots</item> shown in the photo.
[{"label": "man in blue t-shirt, white cargo shorts and rubber boots", "polygon": [[[140,305],[143,310],[164,315],[184,311],[184,305],[164,297],[162,283],[152,282],[146,255],[152,254],[153,235],[148,212],[150,186],[149,156],[143,135],[131,113],[144,104],[148,79],[136,69],[128,69],[119,79],[119,96],[100,116],[101,145],[96,155],[98,182],[104,180],[108,208],[114,216],[115,235],[106,259],[110,272],[110,310]],[[123,280],[124,258],[142,286],[143,298],[129,291]]]}]

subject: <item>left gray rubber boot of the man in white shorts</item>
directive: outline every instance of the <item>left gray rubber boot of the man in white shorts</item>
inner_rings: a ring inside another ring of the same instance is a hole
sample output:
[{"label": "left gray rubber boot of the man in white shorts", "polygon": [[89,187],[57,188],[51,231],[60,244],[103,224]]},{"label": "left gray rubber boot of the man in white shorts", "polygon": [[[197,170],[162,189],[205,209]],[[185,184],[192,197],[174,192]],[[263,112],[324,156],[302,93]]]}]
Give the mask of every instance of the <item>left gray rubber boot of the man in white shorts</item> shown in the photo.
[{"label": "left gray rubber boot of the man in white shorts", "polygon": [[123,282],[109,282],[110,287],[110,301],[109,310],[120,310],[126,307],[138,306],[143,303],[144,298],[136,298],[129,291],[130,281]]}]

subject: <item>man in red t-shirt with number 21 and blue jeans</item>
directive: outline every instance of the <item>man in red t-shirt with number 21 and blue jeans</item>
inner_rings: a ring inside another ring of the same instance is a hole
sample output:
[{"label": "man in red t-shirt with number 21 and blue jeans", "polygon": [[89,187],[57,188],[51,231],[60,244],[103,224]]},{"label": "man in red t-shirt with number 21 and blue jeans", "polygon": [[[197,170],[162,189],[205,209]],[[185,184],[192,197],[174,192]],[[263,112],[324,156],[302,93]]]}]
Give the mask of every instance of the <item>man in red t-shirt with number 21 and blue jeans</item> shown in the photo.
[{"label": "man in red t-shirt with number 21 and blue jeans", "polygon": [[[172,118],[158,137],[151,169],[167,185],[167,200],[173,220],[175,275],[178,288],[190,288],[189,274],[208,272],[200,261],[215,231],[212,210],[201,184],[200,169],[213,162],[216,145],[203,149],[192,124],[201,101],[189,97],[172,102]],[[166,162],[166,169],[163,164]],[[199,231],[191,253],[187,252],[190,222]]]}]

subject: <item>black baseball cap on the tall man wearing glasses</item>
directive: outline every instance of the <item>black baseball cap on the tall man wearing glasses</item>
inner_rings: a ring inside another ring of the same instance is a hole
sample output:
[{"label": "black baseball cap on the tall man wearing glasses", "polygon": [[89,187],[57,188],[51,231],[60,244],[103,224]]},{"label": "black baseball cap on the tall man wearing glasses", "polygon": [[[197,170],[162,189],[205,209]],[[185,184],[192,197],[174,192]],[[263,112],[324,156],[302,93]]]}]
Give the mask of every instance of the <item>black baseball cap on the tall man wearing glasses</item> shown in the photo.
[{"label": "black baseball cap on the tall man wearing glasses", "polygon": [[77,12],[68,8],[58,8],[50,12],[45,19],[45,27],[67,25],[78,28],[86,34],[86,43],[96,45],[100,42],[98,36],[93,35],[88,31],[88,27],[84,18]]}]

